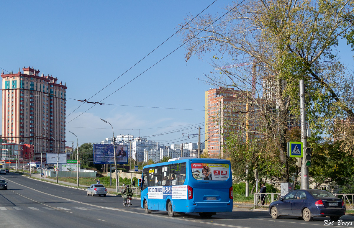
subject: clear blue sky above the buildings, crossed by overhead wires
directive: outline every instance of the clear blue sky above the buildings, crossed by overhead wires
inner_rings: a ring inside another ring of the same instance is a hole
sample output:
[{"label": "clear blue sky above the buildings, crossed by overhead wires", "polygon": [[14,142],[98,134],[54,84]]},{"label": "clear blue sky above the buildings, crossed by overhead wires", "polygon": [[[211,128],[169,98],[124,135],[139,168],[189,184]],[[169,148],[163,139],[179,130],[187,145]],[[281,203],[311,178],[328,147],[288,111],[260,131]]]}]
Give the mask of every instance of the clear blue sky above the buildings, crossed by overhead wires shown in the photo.
[{"label": "clear blue sky above the buildings, crossed by overhead wires", "polygon": [[[1,1],[0,67],[17,73],[18,68],[30,66],[66,82],[67,146],[71,146],[72,141],[76,144],[75,136],[69,131],[78,136],[79,144],[98,143],[112,137],[112,129],[100,118],[113,125],[115,135],[147,137],[186,127],[190,129],[147,138],[166,145],[197,142],[198,138],[182,138],[182,133],[196,134],[198,126],[204,128],[204,96],[211,86],[198,78],[213,70],[208,63],[211,53],[204,62],[193,57],[186,63],[182,47],[102,101],[198,110],[92,107],[93,104],[87,103],[78,108],[82,103],[75,100],[93,96],[175,33],[186,15],[195,16],[212,2]],[[216,15],[224,12],[220,7],[231,3],[218,0],[204,13]],[[180,39],[174,36],[90,101],[101,101],[179,45]],[[345,46],[342,45],[342,60],[352,65],[352,53]]]}]

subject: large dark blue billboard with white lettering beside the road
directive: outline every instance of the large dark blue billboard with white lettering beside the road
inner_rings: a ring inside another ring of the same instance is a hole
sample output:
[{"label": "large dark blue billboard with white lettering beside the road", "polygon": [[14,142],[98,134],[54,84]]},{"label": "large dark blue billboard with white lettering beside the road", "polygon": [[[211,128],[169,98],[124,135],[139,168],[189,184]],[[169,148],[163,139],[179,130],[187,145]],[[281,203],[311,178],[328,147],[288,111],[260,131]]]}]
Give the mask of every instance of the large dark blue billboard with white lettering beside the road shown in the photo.
[{"label": "large dark blue billboard with white lettering beside the road", "polygon": [[[117,164],[128,164],[128,145],[116,145]],[[112,144],[93,144],[93,164],[114,164]]]}]

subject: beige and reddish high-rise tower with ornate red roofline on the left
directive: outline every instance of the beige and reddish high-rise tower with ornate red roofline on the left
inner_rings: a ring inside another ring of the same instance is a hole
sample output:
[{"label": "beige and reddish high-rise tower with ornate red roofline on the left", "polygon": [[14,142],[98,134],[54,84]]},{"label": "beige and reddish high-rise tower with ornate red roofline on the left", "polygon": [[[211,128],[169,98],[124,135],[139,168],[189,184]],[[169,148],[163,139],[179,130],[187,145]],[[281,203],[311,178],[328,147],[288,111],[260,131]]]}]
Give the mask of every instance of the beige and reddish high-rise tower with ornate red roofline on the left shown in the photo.
[{"label": "beige and reddish high-rise tower with ornate red roofline on the left", "polygon": [[2,138],[32,144],[35,161],[41,152],[65,152],[66,84],[39,70],[22,68],[2,78]]}]

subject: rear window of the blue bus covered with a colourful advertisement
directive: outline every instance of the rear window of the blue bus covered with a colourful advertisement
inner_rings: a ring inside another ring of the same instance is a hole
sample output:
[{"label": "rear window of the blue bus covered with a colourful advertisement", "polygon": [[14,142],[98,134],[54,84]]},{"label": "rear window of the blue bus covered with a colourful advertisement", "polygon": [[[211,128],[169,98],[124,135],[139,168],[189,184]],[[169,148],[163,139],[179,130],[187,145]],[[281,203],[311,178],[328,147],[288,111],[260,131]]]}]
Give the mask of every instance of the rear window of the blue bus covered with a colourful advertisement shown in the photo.
[{"label": "rear window of the blue bus covered with a colourful advertisement", "polygon": [[202,181],[226,181],[230,175],[229,164],[191,163],[194,179]]}]

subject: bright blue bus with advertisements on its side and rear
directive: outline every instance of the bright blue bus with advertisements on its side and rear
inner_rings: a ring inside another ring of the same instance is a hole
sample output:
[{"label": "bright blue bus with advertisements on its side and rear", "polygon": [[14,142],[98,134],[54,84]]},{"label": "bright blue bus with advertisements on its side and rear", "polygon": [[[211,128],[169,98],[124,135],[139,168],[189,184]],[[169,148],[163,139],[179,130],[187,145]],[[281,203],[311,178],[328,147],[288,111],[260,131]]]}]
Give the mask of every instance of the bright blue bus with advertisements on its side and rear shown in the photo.
[{"label": "bright blue bus with advertisements on its side and rear", "polygon": [[145,213],[211,217],[233,208],[231,166],[224,159],[182,157],[144,166],[141,190]]}]

